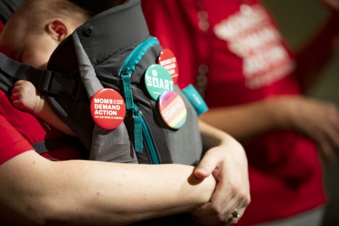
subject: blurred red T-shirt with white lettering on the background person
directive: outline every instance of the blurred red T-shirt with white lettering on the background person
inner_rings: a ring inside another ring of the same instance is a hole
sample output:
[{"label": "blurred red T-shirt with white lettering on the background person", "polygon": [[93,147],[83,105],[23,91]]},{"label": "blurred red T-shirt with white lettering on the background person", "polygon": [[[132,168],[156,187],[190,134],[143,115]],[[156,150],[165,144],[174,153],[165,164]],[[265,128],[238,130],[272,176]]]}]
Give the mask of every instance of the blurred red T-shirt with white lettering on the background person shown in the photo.
[{"label": "blurred red T-shirt with white lettering on the background person", "polygon": [[[179,86],[197,85],[209,107],[300,93],[293,54],[259,1],[143,0],[142,7],[150,33],[177,57]],[[325,202],[311,140],[293,131],[271,131],[244,146],[252,201],[239,225]]]}]

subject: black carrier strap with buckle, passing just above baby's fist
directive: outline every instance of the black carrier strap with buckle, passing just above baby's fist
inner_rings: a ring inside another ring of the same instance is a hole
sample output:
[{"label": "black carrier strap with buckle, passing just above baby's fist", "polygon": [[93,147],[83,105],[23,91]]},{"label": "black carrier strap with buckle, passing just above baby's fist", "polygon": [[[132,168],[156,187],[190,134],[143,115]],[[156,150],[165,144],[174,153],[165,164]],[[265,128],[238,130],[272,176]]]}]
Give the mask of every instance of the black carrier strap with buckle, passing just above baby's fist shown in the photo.
[{"label": "black carrier strap with buckle, passing just above baby's fist", "polygon": [[86,100],[88,97],[80,78],[71,75],[39,70],[21,64],[0,53],[0,89],[7,94],[18,80],[27,80],[33,83],[42,93],[71,97],[74,100]]}]

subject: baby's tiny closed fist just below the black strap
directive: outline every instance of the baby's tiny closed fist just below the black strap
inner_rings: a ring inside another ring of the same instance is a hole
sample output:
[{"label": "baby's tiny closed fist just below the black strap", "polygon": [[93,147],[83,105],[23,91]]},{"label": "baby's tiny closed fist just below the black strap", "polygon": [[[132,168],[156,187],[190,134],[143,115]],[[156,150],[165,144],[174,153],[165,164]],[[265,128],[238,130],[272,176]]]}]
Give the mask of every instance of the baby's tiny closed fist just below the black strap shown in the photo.
[{"label": "baby's tiny closed fist just below the black strap", "polygon": [[40,100],[41,94],[31,82],[20,80],[14,84],[11,95],[13,106],[34,113]]}]

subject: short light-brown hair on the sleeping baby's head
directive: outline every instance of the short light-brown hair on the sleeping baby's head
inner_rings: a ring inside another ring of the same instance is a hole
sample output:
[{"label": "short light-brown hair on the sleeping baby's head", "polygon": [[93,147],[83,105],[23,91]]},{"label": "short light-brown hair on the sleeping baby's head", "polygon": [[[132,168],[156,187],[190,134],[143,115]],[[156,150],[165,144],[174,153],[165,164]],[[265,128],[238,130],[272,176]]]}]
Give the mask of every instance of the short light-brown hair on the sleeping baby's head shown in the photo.
[{"label": "short light-brown hair on the sleeping baby's head", "polygon": [[26,0],[12,17],[27,17],[30,31],[42,31],[52,19],[66,19],[75,27],[89,19],[89,13],[68,0]]}]

